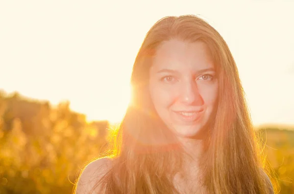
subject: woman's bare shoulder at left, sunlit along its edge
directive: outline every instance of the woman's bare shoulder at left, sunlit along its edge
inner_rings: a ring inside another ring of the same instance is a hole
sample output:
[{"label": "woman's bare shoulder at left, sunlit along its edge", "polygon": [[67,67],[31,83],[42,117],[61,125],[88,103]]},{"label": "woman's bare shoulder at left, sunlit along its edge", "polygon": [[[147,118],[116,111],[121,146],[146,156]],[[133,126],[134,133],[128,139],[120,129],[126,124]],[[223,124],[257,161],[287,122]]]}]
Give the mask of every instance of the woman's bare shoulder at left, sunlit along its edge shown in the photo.
[{"label": "woman's bare shoulder at left, sunlit along its edge", "polygon": [[[75,194],[97,194],[99,191],[99,185],[97,188],[97,182],[110,170],[112,160],[109,158],[101,158],[88,164],[81,173]],[[95,188],[95,190],[93,190]],[[92,193],[91,193],[92,192]]]}]

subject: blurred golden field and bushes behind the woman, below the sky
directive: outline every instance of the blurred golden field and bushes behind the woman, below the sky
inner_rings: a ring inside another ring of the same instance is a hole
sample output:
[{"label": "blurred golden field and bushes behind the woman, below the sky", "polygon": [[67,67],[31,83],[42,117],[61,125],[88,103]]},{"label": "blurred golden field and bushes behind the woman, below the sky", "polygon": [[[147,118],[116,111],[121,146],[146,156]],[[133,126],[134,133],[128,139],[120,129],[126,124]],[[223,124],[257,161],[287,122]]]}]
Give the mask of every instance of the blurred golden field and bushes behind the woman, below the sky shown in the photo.
[{"label": "blurred golden field and bushes behind the woman, below the sky", "polygon": [[[52,107],[0,91],[0,194],[71,194],[86,162],[105,151],[109,128],[87,123],[68,102]],[[280,194],[294,194],[294,127],[260,128]]]}]

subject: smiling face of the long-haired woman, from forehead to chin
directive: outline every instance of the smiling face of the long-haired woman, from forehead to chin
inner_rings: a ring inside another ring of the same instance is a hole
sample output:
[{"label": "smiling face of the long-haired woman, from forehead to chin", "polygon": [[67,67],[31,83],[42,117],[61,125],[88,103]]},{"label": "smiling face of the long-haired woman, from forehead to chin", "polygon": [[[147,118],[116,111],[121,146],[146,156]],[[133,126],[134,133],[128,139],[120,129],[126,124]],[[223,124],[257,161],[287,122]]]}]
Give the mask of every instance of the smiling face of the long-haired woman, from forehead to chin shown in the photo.
[{"label": "smiling face of the long-haired woman, from forehead to chin", "polygon": [[195,137],[216,106],[218,80],[202,42],[170,40],[159,46],[149,72],[155,110],[176,135]]}]

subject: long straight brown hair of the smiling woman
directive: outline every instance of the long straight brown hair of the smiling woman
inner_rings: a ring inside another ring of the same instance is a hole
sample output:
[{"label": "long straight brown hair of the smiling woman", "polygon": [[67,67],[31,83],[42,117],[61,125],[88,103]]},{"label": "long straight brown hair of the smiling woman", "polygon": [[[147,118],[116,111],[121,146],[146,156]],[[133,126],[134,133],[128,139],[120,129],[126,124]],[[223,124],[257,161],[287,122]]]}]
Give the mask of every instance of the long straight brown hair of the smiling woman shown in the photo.
[{"label": "long straight brown hair of the smiling woman", "polygon": [[147,89],[156,48],[171,39],[206,43],[218,73],[219,101],[201,158],[203,188],[211,194],[267,194],[235,61],[221,35],[193,15],[165,17],[148,31],[133,66],[132,103],[115,135],[112,168],[99,184],[106,194],[178,193],[172,177],[182,166],[181,148],[154,113]]}]

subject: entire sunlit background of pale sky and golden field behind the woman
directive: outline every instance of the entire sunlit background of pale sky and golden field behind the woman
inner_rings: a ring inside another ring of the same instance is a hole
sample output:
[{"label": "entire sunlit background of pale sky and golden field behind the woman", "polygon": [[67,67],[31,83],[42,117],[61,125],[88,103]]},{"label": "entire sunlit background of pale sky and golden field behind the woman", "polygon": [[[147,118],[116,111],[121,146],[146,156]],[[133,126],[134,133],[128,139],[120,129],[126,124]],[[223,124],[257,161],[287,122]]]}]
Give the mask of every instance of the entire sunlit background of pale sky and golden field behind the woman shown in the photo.
[{"label": "entire sunlit background of pale sky and golden field behind the woman", "polygon": [[[0,0],[0,194],[70,194],[164,16],[195,14],[237,63],[281,194],[294,194],[294,0]],[[69,103],[70,102],[70,103]]]}]

